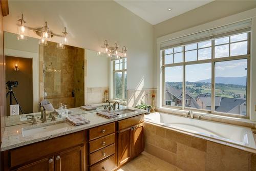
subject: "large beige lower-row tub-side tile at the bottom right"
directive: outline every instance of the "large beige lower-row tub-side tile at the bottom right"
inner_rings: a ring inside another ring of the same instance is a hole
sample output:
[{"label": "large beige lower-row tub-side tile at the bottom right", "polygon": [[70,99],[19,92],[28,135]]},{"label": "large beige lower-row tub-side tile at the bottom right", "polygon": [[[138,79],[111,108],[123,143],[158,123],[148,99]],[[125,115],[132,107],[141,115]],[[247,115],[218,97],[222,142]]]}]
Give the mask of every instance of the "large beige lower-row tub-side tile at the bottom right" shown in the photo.
[{"label": "large beige lower-row tub-side tile at the bottom right", "polygon": [[207,141],[206,170],[249,170],[249,153]]}]

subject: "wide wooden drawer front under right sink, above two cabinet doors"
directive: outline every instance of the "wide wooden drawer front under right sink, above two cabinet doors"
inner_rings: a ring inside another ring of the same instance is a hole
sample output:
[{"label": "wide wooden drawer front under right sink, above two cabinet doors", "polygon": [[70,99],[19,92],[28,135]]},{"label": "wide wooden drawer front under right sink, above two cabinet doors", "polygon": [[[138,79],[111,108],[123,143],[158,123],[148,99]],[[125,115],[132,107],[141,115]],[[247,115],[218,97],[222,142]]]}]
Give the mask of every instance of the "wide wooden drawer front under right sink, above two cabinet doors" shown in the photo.
[{"label": "wide wooden drawer front under right sink, above two cabinet doors", "polygon": [[123,119],[118,121],[118,130],[126,129],[127,127],[134,126],[142,122],[144,122],[144,114]]}]

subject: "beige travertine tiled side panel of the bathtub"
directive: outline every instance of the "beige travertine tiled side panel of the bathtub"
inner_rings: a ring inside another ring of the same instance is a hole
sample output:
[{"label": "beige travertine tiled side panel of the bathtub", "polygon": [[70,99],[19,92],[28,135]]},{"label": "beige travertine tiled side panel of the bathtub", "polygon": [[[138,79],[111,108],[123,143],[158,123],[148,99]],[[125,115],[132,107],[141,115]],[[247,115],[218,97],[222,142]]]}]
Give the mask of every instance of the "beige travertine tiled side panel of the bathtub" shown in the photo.
[{"label": "beige travertine tiled side panel of the bathtub", "polygon": [[225,144],[145,123],[145,152],[183,170],[255,170],[256,155]]}]

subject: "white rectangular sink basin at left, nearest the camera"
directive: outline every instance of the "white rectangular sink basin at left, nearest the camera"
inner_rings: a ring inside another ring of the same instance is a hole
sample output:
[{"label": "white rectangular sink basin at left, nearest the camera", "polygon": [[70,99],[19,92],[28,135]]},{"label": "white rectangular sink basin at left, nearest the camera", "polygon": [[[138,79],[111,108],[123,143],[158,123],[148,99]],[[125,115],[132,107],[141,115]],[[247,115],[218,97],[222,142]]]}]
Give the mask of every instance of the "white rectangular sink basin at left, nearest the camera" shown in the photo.
[{"label": "white rectangular sink basin at left, nearest the camera", "polygon": [[48,131],[53,131],[57,129],[62,129],[63,127],[69,127],[70,125],[66,122],[63,123],[57,123],[57,124],[52,124],[52,125],[47,125],[47,126],[36,126],[36,127],[31,127],[31,128],[23,128],[22,129],[22,136],[30,136],[30,135],[36,135]]}]

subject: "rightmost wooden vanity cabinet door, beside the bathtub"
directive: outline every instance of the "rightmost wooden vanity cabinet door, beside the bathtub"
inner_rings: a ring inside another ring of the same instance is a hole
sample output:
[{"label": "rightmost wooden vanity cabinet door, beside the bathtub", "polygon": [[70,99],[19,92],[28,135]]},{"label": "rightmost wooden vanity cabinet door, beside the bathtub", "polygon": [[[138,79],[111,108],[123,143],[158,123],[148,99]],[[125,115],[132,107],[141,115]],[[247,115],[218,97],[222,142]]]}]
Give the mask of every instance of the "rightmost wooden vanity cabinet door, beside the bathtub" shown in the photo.
[{"label": "rightmost wooden vanity cabinet door, beside the bathtub", "polygon": [[144,151],[143,123],[134,126],[132,134],[132,154],[133,158]]}]

